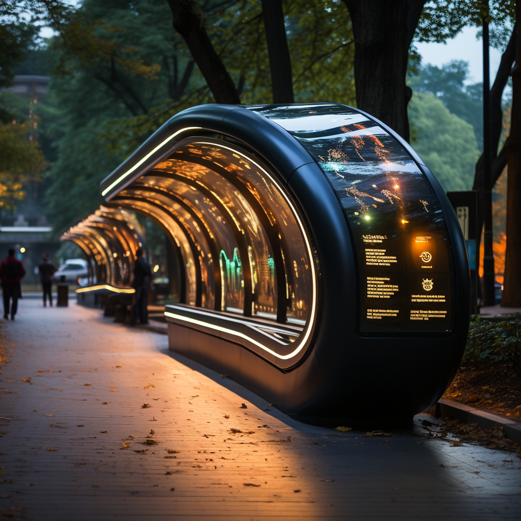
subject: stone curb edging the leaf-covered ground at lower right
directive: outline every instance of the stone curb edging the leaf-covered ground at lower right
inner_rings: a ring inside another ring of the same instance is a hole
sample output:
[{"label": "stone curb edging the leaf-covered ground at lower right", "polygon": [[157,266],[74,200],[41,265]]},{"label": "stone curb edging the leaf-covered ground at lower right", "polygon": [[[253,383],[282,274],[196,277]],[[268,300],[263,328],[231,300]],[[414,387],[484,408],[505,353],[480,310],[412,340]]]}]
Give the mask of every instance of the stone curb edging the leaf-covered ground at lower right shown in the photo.
[{"label": "stone curb edging the leaf-covered ground at lower right", "polygon": [[509,420],[495,414],[481,411],[463,403],[441,398],[438,403],[425,411],[435,418],[448,416],[451,419],[466,424],[478,424],[482,429],[493,429],[496,425],[503,427],[505,438],[521,445],[521,423]]}]

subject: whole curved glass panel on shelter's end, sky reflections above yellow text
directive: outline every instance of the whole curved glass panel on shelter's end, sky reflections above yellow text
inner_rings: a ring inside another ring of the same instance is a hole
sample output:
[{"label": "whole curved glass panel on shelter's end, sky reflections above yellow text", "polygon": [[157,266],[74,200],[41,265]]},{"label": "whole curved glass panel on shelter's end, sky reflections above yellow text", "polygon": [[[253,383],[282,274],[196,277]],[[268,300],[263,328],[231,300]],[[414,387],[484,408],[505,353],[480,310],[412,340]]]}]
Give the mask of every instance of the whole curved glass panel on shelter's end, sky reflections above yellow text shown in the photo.
[{"label": "whole curved glass panel on shelter's end, sky reflections above yellow text", "polygon": [[288,130],[337,194],[355,243],[361,331],[450,331],[453,278],[445,221],[404,147],[350,107],[252,110]]}]

